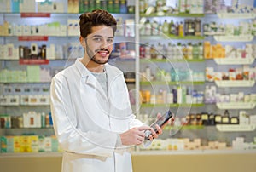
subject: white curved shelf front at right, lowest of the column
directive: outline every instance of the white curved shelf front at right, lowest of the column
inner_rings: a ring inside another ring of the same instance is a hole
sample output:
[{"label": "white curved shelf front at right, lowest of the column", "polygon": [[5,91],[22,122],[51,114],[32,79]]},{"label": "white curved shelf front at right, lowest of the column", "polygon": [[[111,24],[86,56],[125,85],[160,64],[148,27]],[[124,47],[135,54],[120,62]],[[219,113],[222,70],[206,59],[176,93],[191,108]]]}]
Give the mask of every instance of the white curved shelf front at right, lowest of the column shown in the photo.
[{"label": "white curved shelf front at right, lowest of the column", "polygon": [[244,131],[254,131],[256,125],[253,124],[218,124],[216,125],[218,131],[221,132],[244,132]]}]

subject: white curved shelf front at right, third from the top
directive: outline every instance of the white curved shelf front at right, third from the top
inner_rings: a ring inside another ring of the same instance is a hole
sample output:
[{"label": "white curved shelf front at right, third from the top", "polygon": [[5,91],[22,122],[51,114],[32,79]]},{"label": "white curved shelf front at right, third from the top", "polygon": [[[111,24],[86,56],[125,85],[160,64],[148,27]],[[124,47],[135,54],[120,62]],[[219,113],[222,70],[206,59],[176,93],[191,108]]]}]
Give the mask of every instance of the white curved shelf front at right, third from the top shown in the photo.
[{"label": "white curved shelf front at right, third from the top", "polygon": [[253,58],[215,58],[218,65],[250,65],[253,64]]}]

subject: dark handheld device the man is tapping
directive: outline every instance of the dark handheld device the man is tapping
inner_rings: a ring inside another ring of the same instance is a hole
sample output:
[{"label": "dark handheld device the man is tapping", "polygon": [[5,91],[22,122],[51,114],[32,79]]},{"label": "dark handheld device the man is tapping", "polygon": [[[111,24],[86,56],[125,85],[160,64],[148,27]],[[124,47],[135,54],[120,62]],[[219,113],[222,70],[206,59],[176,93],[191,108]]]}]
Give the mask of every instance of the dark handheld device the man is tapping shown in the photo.
[{"label": "dark handheld device the man is tapping", "polygon": [[[160,128],[162,128],[163,125],[165,125],[169,121],[169,119],[172,118],[172,116],[172,112],[169,109],[164,115],[162,115],[159,119],[152,123],[150,127],[152,127],[156,133],[158,133],[157,129],[155,128],[155,125],[158,124]],[[149,140],[149,135],[152,135],[151,131],[145,130],[145,140]]]}]

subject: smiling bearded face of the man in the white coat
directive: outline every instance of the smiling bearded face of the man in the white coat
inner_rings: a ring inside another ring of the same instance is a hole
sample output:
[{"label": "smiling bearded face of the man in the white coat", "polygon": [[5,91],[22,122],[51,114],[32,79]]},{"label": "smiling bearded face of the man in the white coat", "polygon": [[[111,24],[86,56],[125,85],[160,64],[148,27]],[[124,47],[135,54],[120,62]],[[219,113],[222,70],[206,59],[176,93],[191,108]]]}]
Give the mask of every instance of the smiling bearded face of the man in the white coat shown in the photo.
[{"label": "smiling bearded face of the man in the white coat", "polygon": [[85,38],[85,54],[97,64],[108,62],[113,50],[113,29],[109,26],[94,26]]}]

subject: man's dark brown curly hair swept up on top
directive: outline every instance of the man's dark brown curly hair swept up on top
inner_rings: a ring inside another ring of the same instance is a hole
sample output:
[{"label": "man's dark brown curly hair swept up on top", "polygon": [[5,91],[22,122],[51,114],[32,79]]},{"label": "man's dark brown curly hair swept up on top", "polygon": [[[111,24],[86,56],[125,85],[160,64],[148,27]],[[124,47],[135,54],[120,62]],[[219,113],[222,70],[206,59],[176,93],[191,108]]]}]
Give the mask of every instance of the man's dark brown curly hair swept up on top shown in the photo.
[{"label": "man's dark brown curly hair swept up on top", "polygon": [[91,12],[81,14],[79,19],[80,35],[84,38],[91,33],[93,26],[110,26],[113,28],[113,34],[116,31],[117,22],[113,15],[106,10],[94,9]]}]

